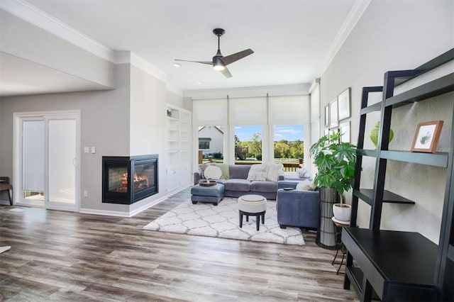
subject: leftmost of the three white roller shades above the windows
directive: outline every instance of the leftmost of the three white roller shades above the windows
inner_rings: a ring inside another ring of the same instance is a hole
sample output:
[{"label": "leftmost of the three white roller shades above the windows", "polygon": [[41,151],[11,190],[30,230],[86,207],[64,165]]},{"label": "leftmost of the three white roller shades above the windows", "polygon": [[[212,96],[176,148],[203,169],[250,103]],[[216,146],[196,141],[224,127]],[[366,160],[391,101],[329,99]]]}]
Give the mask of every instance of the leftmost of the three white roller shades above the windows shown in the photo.
[{"label": "leftmost of the three white roller shades above the windows", "polygon": [[194,100],[192,103],[192,124],[227,125],[227,99]]}]

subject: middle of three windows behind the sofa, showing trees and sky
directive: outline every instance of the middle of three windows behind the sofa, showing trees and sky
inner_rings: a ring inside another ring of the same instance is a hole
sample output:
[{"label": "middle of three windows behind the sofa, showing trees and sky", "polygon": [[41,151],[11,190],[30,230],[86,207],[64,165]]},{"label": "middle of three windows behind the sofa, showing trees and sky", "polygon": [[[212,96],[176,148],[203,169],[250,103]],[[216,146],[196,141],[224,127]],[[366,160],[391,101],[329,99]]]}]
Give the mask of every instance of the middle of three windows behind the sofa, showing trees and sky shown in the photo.
[{"label": "middle of three windows behind the sofa, showing trees and sky", "polygon": [[235,126],[235,164],[262,161],[262,126]]}]

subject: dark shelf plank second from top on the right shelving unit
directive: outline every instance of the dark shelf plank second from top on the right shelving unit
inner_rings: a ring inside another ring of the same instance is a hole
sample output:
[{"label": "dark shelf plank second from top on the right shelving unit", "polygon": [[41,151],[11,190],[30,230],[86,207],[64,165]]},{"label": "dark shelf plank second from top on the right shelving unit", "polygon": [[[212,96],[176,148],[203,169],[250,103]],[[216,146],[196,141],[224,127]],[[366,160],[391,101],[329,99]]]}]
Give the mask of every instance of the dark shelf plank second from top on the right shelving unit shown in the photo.
[{"label": "dark shelf plank second from top on the right shelving unit", "polygon": [[454,73],[447,74],[444,77],[402,92],[402,94],[392,96],[385,101],[385,106],[397,108],[416,101],[429,99],[433,96],[439,96],[450,91],[454,91]]}]

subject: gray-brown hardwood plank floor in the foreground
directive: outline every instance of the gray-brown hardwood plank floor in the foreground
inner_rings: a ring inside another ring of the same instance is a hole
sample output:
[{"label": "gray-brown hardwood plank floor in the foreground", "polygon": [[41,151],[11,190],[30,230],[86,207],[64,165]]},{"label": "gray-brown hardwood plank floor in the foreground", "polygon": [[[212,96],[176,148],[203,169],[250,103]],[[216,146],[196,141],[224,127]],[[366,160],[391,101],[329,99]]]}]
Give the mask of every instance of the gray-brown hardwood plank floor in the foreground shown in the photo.
[{"label": "gray-brown hardwood plank floor in the foreground", "polygon": [[0,301],[358,301],[314,233],[299,247],[142,230],[188,198],[132,218],[0,206]]}]

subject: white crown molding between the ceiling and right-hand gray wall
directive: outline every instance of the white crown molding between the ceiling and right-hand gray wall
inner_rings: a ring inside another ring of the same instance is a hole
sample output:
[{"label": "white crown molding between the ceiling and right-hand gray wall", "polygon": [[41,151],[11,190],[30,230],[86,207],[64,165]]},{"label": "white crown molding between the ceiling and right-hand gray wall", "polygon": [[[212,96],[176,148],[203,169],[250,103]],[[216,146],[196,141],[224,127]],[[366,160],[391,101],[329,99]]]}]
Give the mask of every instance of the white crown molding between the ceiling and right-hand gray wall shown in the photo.
[{"label": "white crown molding between the ceiling and right-hand gray wall", "polygon": [[326,53],[326,56],[323,58],[321,65],[319,67],[319,73],[317,77],[320,77],[325,71],[326,68],[331,64],[331,61],[336,57],[338,51],[341,49],[341,46],[347,40],[348,35],[350,35],[353,28],[355,28],[356,23],[360,20],[362,14],[369,6],[371,0],[357,0],[353,5],[353,8],[348,13],[347,18],[345,18],[345,22],[341,26],[341,29],[338,31],[336,38],[334,38],[333,43]]}]

